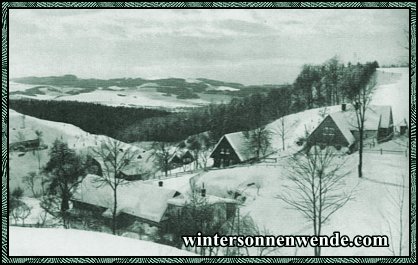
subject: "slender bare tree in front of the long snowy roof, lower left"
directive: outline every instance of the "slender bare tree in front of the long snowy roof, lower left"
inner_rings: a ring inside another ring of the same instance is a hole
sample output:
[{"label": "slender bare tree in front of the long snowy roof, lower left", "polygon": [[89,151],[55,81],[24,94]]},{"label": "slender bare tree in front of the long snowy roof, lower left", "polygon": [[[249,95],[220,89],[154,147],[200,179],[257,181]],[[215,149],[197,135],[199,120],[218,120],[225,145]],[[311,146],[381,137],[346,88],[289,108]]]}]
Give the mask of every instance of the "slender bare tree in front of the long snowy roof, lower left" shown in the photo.
[{"label": "slender bare tree in front of the long snowy roof, lower left", "polygon": [[102,166],[102,175],[97,176],[96,179],[99,187],[107,185],[113,191],[112,232],[116,234],[118,188],[129,183],[120,177],[120,173],[130,166],[138,154],[132,147],[126,147],[122,142],[114,139],[105,140],[99,147],[93,148],[92,153],[100,160]]}]

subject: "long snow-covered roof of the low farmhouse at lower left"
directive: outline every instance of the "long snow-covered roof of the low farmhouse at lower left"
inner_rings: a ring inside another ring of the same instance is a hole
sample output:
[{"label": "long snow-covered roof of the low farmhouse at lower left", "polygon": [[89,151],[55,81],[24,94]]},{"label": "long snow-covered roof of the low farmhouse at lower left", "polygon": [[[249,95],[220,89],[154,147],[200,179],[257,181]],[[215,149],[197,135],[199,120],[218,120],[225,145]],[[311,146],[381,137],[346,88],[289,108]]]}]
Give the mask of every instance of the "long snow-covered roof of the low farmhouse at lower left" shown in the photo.
[{"label": "long snow-covered roof of the low farmhouse at lower left", "polygon": [[[108,185],[97,182],[98,176],[89,174],[79,185],[73,199],[113,209],[113,190]],[[153,222],[160,222],[166,209],[167,201],[177,191],[146,184],[143,181],[130,181],[117,190],[118,213],[126,213]]]}]

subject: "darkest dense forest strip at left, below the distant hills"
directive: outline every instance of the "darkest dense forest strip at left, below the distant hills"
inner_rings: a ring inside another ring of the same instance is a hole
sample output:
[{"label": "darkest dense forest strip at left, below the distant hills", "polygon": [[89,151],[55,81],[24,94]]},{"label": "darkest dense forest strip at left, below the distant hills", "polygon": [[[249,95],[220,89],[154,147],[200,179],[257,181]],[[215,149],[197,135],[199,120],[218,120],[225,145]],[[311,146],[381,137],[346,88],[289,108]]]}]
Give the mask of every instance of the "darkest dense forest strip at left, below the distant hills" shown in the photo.
[{"label": "darkest dense forest strip at left, below the distant hills", "polygon": [[36,118],[65,122],[93,134],[117,137],[135,121],[169,114],[167,111],[112,107],[77,101],[54,101],[35,99],[10,99],[9,107],[22,114]]}]

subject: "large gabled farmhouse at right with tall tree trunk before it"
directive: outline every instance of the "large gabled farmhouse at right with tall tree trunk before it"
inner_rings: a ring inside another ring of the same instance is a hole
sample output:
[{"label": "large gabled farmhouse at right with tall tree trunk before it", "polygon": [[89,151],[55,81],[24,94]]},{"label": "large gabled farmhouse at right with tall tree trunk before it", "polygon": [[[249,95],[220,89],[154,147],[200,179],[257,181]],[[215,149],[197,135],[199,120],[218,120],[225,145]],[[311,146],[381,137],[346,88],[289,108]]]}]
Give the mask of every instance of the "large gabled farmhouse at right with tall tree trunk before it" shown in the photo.
[{"label": "large gabled farmhouse at right with tall tree trunk before it", "polygon": [[[365,142],[382,142],[393,137],[393,117],[390,106],[369,106],[364,123]],[[341,111],[329,114],[309,135],[308,146],[326,145],[337,149],[348,147],[357,149],[359,132],[357,118],[353,109],[342,105]]]}]

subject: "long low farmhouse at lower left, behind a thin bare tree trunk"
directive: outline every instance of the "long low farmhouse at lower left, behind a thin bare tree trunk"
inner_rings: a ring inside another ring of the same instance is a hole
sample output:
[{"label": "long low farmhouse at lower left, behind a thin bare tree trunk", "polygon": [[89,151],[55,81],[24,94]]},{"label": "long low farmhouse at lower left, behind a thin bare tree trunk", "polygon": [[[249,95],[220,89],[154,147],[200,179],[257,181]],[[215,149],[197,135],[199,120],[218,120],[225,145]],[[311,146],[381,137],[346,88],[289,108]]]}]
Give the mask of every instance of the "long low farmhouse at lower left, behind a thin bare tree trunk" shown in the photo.
[{"label": "long low farmhouse at lower left, behind a thin bare tree trunk", "polygon": [[[95,212],[105,218],[112,218],[113,190],[109,185],[97,182],[98,176],[89,174],[73,195],[73,208]],[[129,225],[134,221],[152,226],[161,226],[167,220],[168,200],[180,193],[143,181],[132,181],[120,185],[117,190],[118,223]]]}]

